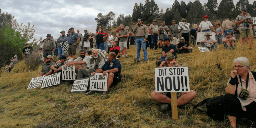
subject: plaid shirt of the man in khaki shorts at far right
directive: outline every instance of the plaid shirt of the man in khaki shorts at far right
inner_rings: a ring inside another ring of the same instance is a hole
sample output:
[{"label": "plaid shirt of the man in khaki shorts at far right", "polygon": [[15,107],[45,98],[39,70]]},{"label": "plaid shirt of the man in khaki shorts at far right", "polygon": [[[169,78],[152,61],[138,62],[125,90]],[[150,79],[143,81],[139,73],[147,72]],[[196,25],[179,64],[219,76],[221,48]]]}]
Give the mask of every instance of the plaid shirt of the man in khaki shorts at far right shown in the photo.
[{"label": "plaid shirt of the man in khaki shorts at far right", "polygon": [[[241,13],[240,15],[238,15],[236,17],[235,22],[238,22],[240,20],[247,19],[247,18],[249,18],[249,20],[252,21],[252,17],[249,13],[246,13],[245,16],[243,16],[242,13]],[[249,27],[247,27],[247,25],[249,25]],[[247,29],[252,29],[252,25],[250,23],[247,23],[247,22],[243,21],[239,24],[239,30],[247,30]]]}]

